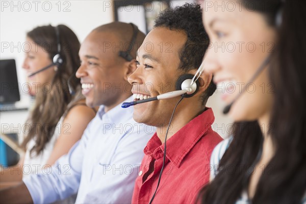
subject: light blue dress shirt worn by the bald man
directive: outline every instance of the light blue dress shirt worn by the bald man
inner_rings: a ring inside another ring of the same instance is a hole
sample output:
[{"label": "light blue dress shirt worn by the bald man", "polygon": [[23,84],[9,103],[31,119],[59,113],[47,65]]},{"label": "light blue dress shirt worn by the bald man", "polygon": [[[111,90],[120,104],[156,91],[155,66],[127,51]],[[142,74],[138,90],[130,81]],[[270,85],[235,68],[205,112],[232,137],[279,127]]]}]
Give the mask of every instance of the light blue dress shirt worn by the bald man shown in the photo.
[{"label": "light blue dress shirt worn by the bald man", "polygon": [[101,106],[67,155],[23,180],[34,203],[54,202],[77,192],[76,203],[131,203],[143,149],[155,128],[135,122],[133,107],[120,106],[107,113]]}]

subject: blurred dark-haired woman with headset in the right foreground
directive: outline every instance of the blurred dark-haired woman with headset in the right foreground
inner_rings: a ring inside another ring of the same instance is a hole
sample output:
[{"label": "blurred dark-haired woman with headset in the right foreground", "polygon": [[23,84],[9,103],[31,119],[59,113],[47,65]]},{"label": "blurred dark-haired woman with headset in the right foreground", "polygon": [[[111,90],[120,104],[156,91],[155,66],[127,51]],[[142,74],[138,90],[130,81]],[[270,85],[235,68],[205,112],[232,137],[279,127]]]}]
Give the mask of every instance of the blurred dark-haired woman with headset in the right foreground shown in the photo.
[{"label": "blurred dark-haired woman with headset in the right foreground", "polygon": [[212,181],[199,200],[305,203],[306,2],[231,2],[223,11],[208,3],[203,24],[213,48],[205,70],[227,87],[222,99],[234,101],[235,124],[213,151]]}]

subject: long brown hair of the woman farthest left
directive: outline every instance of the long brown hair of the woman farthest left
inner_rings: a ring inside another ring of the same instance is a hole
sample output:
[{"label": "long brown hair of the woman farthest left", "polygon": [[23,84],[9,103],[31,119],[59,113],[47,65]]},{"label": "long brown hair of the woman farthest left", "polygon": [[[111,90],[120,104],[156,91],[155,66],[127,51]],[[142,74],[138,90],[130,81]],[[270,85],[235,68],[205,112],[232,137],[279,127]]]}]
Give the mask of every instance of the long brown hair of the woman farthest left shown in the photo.
[{"label": "long brown hair of the woman farthest left", "polygon": [[[68,89],[69,77],[77,71],[80,65],[79,49],[80,42],[78,37],[66,25],[58,25],[59,40],[61,44],[60,55],[63,58],[63,64],[58,67],[56,74],[50,84],[50,90],[44,90],[44,86],[39,89],[35,98],[35,105],[28,118],[25,138],[21,144],[26,148],[31,139],[35,140],[35,146],[30,150],[30,155],[34,152],[39,154],[45,147],[45,144],[52,138],[57,123],[66,113],[69,105],[78,99],[81,99],[80,80],[71,78],[70,84],[74,90],[77,90],[75,96],[71,96]],[[27,36],[39,46],[48,45],[50,60],[53,60],[58,52],[56,29],[52,25],[37,27],[27,33]],[[69,104],[70,103],[70,104]]]}]

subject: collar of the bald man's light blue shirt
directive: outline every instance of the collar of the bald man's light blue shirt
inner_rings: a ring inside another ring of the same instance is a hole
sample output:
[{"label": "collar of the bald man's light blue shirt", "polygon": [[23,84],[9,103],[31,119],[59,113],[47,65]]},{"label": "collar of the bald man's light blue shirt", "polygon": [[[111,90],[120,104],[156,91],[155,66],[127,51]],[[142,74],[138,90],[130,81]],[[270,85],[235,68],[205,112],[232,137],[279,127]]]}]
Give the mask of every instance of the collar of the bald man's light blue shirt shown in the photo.
[{"label": "collar of the bald man's light blue shirt", "polygon": [[[130,96],[129,98],[126,98],[124,101],[132,101],[132,100],[133,100],[133,96]],[[97,112],[100,120],[107,119],[109,120],[109,122],[118,122],[120,120],[126,120],[126,116],[129,116],[129,117],[132,116],[133,110],[134,110],[133,107],[123,109],[121,107],[122,103],[118,104],[117,106],[109,110],[107,113],[105,112],[105,106],[104,105],[100,106]],[[122,113],[125,113],[125,114],[122,114]]]}]

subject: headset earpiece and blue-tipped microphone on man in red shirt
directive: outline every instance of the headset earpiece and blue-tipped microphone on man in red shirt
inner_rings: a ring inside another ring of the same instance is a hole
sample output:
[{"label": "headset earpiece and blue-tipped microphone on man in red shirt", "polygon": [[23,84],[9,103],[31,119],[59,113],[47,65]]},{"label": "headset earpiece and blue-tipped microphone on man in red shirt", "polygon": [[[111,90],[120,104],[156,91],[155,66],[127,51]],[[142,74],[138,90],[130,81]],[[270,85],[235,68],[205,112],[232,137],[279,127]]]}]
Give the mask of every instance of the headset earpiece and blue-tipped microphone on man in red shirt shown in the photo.
[{"label": "headset earpiece and blue-tipped microphone on man in red shirt", "polygon": [[[121,105],[122,108],[128,108],[130,106],[134,106],[136,104],[142,104],[146,103],[152,100],[160,100],[160,99],[167,99],[167,98],[174,98],[180,95],[183,95],[184,97],[188,98],[193,96],[198,88],[199,88],[199,83],[196,81],[191,85],[193,74],[183,74],[181,77],[176,81],[176,90],[177,91],[171,91],[167,93],[160,94],[155,97],[143,99],[143,100],[134,100],[131,102],[125,102]],[[181,89],[181,90],[179,90]]]}]

